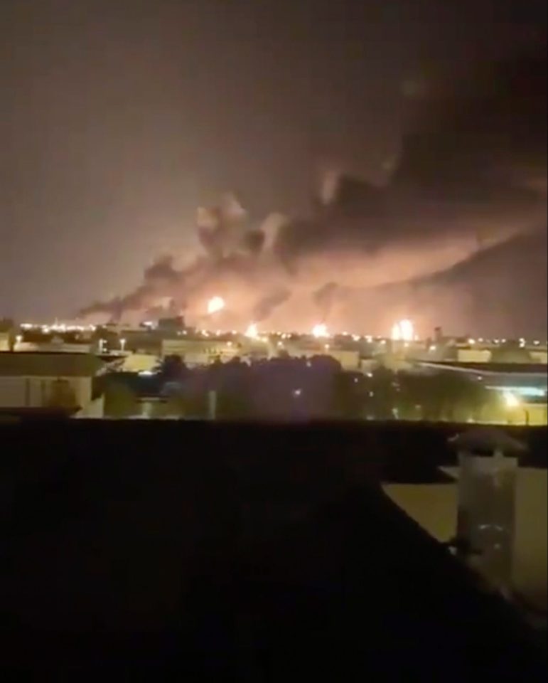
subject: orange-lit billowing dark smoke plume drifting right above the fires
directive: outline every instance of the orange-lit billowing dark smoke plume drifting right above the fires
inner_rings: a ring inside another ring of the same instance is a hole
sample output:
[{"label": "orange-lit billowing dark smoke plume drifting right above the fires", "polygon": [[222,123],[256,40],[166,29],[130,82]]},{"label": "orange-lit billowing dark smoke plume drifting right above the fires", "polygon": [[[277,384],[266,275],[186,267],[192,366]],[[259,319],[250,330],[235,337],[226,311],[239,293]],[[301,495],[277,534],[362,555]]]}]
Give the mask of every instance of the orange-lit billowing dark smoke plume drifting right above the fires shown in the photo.
[{"label": "orange-lit billowing dark smoke plume drifting right above the fires", "polygon": [[[331,329],[377,331],[412,315],[424,326],[452,316],[455,326],[477,329],[474,288],[488,280],[496,292],[494,282],[518,276],[490,254],[505,243],[517,253],[523,235],[546,231],[546,55],[486,65],[458,88],[433,90],[387,186],[329,169],[311,216],[274,213],[259,225],[227,195],[198,209],[203,255],[182,270],[171,257],[156,260],[134,292],[82,315],[123,319],[167,300],[193,322],[219,295],[232,327],[309,329],[325,319]],[[480,269],[459,270],[478,254]],[[529,277],[520,267],[519,277]],[[494,306],[496,295],[485,301]]]}]

